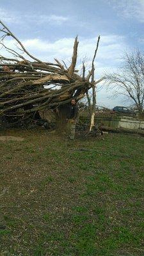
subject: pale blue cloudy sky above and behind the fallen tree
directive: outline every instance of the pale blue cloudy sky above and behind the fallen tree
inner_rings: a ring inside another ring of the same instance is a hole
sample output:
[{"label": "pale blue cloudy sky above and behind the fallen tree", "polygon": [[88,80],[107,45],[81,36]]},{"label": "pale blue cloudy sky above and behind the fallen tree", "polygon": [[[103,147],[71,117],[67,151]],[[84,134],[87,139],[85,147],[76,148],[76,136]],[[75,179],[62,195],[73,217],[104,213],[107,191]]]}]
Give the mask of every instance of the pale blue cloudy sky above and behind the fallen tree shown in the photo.
[{"label": "pale blue cloudy sky above and behind the fallen tree", "polygon": [[[74,38],[79,36],[77,67],[90,68],[97,36],[101,36],[95,61],[95,79],[122,63],[124,51],[143,50],[144,0],[6,0],[0,1],[0,19],[26,48],[44,61],[70,62]],[[113,108],[127,105],[111,99],[104,88],[97,104]]]}]

